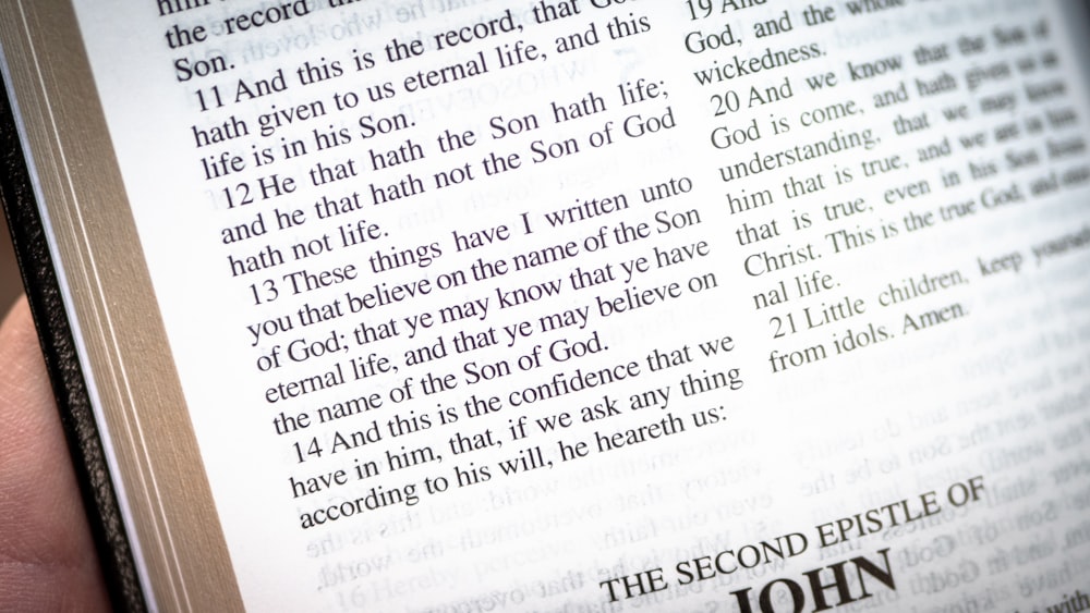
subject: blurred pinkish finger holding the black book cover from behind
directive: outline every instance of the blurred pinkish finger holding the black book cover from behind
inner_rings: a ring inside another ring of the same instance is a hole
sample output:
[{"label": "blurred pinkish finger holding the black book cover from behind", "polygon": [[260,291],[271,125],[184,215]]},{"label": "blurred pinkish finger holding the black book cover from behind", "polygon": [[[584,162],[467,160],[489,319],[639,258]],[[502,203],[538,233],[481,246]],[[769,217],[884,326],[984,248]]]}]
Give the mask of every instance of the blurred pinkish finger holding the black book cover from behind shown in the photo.
[{"label": "blurred pinkish finger holding the black book cover from behind", "polygon": [[0,611],[106,611],[26,299],[0,324]]}]

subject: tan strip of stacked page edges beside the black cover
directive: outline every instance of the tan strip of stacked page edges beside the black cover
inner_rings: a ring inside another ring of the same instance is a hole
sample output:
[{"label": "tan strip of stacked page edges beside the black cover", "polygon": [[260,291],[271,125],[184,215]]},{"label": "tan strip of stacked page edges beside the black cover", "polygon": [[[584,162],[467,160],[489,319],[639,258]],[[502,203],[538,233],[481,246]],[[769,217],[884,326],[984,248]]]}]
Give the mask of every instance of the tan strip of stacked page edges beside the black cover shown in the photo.
[{"label": "tan strip of stacked page edges beside the black cover", "polygon": [[75,12],[68,0],[0,2],[0,37],[148,600],[164,611],[241,611]]}]

